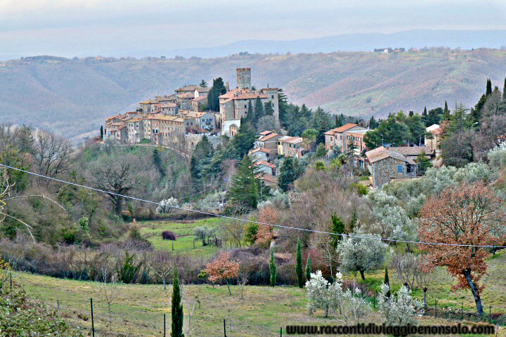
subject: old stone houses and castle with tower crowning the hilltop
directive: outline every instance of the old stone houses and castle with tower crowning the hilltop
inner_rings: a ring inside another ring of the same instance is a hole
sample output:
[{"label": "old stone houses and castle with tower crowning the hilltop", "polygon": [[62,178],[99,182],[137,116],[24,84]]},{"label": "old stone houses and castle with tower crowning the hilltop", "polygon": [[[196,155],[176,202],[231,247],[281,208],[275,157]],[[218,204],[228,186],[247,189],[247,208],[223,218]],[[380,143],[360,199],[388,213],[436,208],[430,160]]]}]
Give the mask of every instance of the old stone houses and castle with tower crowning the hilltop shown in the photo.
[{"label": "old stone houses and castle with tower crowning the hilltop", "polygon": [[155,96],[139,103],[135,111],[105,119],[104,139],[122,144],[143,140],[157,145],[185,144],[192,150],[202,136],[235,136],[240,121],[247,117],[248,106],[257,99],[271,104],[273,117],[279,123],[278,88],[256,90],[251,84],[251,69],[238,68],[237,87],[219,95],[219,112],[207,109],[210,88],[188,85],[171,95]]}]

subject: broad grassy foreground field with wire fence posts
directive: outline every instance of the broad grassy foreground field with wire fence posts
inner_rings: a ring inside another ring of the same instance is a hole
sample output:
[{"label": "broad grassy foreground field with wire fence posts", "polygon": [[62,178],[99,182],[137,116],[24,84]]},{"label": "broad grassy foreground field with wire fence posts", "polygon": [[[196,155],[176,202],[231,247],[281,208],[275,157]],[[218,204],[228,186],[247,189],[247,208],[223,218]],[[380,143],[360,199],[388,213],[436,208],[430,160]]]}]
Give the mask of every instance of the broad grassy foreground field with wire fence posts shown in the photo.
[{"label": "broad grassy foreground field with wire fence posts", "polygon": [[[482,294],[484,308],[492,306],[493,313],[506,312],[505,266],[506,253],[499,253],[489,260],[490,275],[484,279],[486,289]],[[379,289],[384,272],[366,274],[365,283],[370,289]],[[358,277],[359,278],[359,277]],[[354,279],[346,275],[346,279]],[[19,282],[27,293],[46,305],[56,308],[60,303],[60,315],[74,326],[81,327],[86,333],[91,327],[90,298],[93,298],[96,336],[163,336],[163,314],[167,314],[170,326],[171,287],[167,291],[161,285],[124,284],[118,286],[117,295],[112,301],[111,312],[97,282],[80,282],[69,279],[55,279],[22,272],[14,273],[15,282]],[[443,308],[460,308],[473,312],[474,301],[470,291],[451,291],[453,279],[440,269],[436,272],[434,284],[429,288],[429,307],[438,300],[440,318],[425,316],[423,324],[456,324],[460,320],[446,320],[448,315]],[[391,271],[393,290],[400,283]],[[246,286],[244,298],[241,299],[240,286],[231,286],[232,296],[228,295],[226,286],[190,285],[186,286],[188,298],[198,298],[192,318],[190,333],[186,336],[222,336],[223,319],[226,319],[227,336],[279,336],[281,326],[287,324],[338,324],[339,319],[325,319],[323,312],[309,316],[306,312],[306,292],[293,286]],[[197,296],[197,297],[195,297]],[[422,298],[422,291],[415,291],[415,296]],[[185,312],[188,312],[185,306]],[[441,319],[441,315],[443,319]],[[187,317],[185,318],[187,319]],[[381,322],[377,312],[369,317],[372,322]],[[468,322],[469,323],[469,322]],[[501,329],[499,336],[506,336]]]}]

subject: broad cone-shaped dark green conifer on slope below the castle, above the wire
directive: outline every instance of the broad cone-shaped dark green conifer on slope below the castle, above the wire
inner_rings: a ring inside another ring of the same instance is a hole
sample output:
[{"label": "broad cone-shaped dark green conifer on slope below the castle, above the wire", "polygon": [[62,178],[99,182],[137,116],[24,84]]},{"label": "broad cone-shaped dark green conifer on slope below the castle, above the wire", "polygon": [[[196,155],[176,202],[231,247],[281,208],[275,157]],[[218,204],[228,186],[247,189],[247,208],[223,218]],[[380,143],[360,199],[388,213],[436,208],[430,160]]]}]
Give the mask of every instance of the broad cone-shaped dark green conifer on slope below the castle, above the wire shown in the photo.
[{"label": "broad cone-shaped dark green conifer on slope below the castle, above the wire", "polygon": [[255,175],[253,162],[245,154],[232,177],[232,186],[228,192],[232,201],[253,209],[257,208],[259,195]]}]

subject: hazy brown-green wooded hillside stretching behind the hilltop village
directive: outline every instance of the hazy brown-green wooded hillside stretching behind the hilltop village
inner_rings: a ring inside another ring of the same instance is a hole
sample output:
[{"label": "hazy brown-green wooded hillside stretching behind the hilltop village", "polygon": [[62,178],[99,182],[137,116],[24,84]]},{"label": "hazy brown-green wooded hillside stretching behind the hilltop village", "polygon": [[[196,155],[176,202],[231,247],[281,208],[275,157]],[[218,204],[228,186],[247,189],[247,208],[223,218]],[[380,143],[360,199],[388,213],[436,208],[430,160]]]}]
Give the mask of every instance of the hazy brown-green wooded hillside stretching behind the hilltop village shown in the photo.
[{"label": "hazy brown-green wooded hillside stretching behind the hilltop village", "polygon": [[[393,46],[395,47],[395,46]],[[79,138],[105,117],[134,109],[155,94],[252,67],[257,88],[284,88],[294,103],[333,113],[384,117],[422,111],[444,100],[474,105],[486,78],[502,89],[506,51],[480,49],[384,55],[337,52],[232,55],[212,59],[71,60],[56,57],[0,62],[0,122],[29,124]]]}]

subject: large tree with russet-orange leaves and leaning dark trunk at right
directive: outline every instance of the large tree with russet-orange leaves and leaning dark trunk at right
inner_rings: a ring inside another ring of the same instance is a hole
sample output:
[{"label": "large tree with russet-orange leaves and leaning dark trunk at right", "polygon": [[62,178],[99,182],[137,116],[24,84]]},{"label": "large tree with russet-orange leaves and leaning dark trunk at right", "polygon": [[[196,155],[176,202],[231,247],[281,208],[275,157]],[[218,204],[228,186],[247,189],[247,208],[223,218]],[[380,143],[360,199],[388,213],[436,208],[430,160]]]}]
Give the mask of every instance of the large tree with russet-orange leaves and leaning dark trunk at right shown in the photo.
[{"label": "large tree with russet-orange leaves and leaning dark trunk at right", "polygon": [[489,249],[480,246],[498,244],[504,219],[501,199],[491,187],[481,183],[448,187],[427,199],[420,211],[420,242],[438,243],[419,244],[427,252],[427,265],[447,267],[450,275],[458,279],[453,291],[470,289],[480,315],[480,293],[485,285],[479,281],[487,274],[486,258],[490,256]]}]

